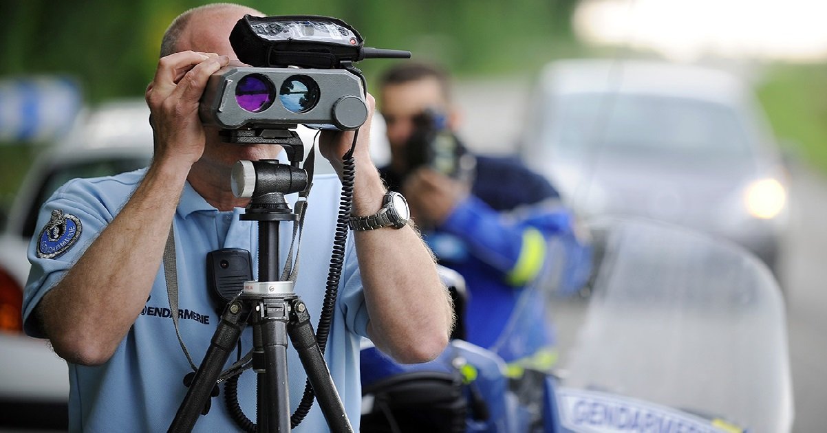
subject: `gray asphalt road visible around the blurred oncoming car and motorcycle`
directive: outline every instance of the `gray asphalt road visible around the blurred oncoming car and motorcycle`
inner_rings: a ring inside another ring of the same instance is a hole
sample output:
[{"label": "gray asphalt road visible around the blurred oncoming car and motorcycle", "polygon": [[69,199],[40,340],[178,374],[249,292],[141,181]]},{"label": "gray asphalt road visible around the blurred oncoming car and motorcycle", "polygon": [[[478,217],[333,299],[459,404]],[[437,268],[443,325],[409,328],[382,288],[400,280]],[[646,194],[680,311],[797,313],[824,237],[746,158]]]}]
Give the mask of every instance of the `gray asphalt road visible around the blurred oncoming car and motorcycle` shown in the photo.
[{"label": "gray asphalt road visible around the blurred oncoming car and motorcycle", "polygon": [[[514,150],[528,109],[527,78],[457,83],[455,98],[464,112],[461,134],[485,153]],[[827,431],[827,178],[803,164],[791,164],[791,233],[786,241],[780,279],[786,292],[787,331],[795,424],[793,431]],[[582,311],[557,306],[562,361]]]}]

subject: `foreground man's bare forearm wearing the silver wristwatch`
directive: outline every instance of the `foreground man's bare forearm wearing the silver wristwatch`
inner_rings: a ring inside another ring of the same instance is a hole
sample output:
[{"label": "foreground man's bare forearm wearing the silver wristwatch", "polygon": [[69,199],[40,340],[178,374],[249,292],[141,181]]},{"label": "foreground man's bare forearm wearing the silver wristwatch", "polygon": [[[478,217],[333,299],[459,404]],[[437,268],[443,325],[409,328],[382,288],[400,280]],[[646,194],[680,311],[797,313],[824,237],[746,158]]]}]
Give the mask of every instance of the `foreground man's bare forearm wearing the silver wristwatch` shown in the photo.
[{"label": "foreground man's bare forearm wearing the silver wristwatch", "polygon": [[[385,187],[372,165],[357,168],[356,215],[379,210]],[[355,232],[375,345],[400,362],[433,359],[447,344],[453,311],[428,247],[411,226]]]}]

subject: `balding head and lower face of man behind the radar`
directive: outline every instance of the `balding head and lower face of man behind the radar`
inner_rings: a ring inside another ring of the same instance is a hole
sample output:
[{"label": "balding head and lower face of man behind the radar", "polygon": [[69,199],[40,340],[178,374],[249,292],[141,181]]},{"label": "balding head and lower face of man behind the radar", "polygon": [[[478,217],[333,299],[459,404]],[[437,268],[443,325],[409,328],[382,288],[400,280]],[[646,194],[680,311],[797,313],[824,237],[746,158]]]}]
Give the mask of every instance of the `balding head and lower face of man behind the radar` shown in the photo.
[{"label": "balding head and lower face of man behind the radar", "polygon": [[[204,53],[217,53],[230,57],[230,65],[243,65],[230,45],[230,32],[236,22],[245,14],[261,16],[261,12],[246,7],[227,7],[200,13],[180,37],[177,48]],[[232,167],[239,159],[270,159],[280,151],[277,145],[237,145],[223,142],[218,136],[218,127],[205,127],[207,141],[201,157],[203,163]]]}]

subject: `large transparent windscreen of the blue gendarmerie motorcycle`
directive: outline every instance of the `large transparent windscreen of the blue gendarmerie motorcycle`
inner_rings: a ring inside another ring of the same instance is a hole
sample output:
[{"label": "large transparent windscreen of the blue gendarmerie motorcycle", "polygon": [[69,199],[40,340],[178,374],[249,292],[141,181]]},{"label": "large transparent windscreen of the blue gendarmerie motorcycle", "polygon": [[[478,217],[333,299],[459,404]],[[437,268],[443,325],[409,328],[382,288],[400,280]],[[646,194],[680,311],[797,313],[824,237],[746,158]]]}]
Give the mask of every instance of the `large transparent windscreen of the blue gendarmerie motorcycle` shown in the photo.
[{"label": "large transparent windscreen of the blue gendarmerie motorcycle", "polygon": [[789,431],[786,320],[770,271],[736,245],[662,223],[591,228],[602,257],[562,387]]}]

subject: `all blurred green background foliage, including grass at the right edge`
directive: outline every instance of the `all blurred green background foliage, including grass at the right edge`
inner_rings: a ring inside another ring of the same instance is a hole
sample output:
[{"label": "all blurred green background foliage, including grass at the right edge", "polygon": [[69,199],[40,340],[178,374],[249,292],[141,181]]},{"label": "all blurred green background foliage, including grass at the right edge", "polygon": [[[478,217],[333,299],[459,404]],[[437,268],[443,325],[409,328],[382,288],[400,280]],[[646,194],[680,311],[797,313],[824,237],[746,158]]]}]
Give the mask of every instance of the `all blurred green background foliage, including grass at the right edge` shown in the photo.
[{"label": "all blurred green background foliage, including grass at the right edge", "polygon": [[[0,7],[0,78],[68,74],[84,100],[140,97],[155,70],[160,38],[196,0],[4,0]],[[571,33],[577,0],[240,1],[272,15],[318,14],[355,26],[366,45],[411,50],[446,64],[459,79],[532,76],[556,58],[600,55]],[[617,51],[613,51],[617,55]],[[611,53],[610,53],[611,54]],[[389,60],[359,64],[370,83]],[[827,170],[827,67],[765,66],[758,95],[788,150]],[[0,145],[0,208],[42,146]]]}]

